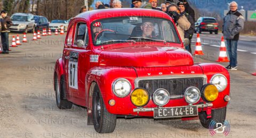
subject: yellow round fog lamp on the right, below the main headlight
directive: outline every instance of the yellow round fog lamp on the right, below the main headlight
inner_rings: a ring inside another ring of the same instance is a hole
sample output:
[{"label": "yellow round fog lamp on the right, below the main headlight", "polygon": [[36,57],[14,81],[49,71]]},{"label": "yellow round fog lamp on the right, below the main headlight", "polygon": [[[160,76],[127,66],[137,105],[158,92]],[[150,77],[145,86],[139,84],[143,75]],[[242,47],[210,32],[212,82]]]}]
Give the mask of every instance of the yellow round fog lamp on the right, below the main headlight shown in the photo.
[{"label": "yellow round fog lamp on the right, below the main headlight", "polygon": [[214,101],[218,98],[219,91],[213,84],[206,84],[202,89],[202,97],[205,101]]}]

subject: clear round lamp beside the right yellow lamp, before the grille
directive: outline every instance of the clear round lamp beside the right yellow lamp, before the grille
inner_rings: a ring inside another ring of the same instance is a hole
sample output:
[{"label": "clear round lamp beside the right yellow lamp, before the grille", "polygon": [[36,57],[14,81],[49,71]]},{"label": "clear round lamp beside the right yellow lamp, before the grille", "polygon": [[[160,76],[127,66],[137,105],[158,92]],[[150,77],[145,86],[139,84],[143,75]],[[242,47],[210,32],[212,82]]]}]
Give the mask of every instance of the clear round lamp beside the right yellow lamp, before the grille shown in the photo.
[{"label": "clear round lamp beside the right yellow lamp, before the grille", "polygon": [[188,87],[185,90],[185,99],[188,103],[196,103],[200,99],[200,90],[196,87]]}]

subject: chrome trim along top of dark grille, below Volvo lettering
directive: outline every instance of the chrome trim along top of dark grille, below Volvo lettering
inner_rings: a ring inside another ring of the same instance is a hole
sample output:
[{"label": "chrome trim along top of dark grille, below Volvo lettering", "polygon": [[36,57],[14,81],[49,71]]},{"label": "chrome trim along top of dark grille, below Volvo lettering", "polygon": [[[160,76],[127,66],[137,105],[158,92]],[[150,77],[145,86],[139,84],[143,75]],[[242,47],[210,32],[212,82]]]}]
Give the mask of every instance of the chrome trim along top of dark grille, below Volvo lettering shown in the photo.
[{"label": "chrome trim along top of dark grille, below Volvo lettering", "polygon": [[139,87],[139,81],[141,80],[157,80],[157,79],[181,79],[181,78],[191,78],[191,77],[203,77],[203,85],[207,83],[206,75],[166,75],[166,76],[146,76],[146,77],[137,77],[134,80],[134,87]]}]

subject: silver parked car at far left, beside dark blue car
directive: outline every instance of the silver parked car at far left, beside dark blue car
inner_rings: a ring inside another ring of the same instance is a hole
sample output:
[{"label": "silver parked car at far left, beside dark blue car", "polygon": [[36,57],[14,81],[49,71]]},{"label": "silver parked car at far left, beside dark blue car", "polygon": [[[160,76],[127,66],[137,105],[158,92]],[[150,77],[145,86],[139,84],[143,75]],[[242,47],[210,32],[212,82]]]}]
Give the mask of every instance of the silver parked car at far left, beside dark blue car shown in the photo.
[{"label": "silver parked car at far left, beside dark blue car", "polygon": [[34,32],[35,20],[34,15],[30,13],[14,13],[11,16],[13,25],[9,28],[10,31],[17,32]]}]

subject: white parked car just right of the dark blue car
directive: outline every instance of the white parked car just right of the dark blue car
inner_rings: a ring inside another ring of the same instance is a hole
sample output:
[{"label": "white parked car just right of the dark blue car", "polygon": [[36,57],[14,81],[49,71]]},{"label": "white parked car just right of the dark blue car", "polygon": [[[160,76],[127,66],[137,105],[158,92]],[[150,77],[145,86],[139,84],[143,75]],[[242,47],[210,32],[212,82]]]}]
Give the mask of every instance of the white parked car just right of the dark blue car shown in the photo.
[{"label": "white parked car just right of the dark blue car", "polygon": [[49,28],[54,32],[56,29],[60,31],[60,28],[63,27],[66,32],[68,29],[68,21],[67,20],[52,20],[49,24]]}]

